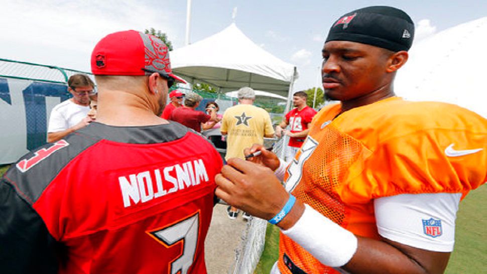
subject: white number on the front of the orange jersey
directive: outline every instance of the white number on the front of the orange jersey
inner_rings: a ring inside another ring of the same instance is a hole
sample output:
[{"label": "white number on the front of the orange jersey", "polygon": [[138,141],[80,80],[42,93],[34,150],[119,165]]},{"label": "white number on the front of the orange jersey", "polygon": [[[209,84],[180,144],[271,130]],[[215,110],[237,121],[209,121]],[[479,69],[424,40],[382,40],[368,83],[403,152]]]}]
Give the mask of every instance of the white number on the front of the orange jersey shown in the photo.
[{"label": "white number on the front of the orange jersey", "polygon": [[316,142],[313,138],[310,136],[306,138],[306,141],[301,147],[301,154],[299,155],[299,158],[297,160],[293,159],[288,168],[289,177],[285,183],[287,192],[291,193],[301,180],[301,177],[303,176],[302,170],[304,162],[309,159],[317,146],[318,142]]}]

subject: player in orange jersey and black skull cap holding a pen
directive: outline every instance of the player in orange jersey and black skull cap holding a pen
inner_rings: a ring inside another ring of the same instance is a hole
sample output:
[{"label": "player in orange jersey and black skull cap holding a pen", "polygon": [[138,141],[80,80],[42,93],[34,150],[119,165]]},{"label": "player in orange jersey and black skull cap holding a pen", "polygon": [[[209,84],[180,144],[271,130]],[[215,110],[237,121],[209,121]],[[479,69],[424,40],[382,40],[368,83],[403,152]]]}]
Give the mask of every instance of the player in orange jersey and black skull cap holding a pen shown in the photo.
[{"label": "player in orange jersey and black skull cap holding a pen", "polygon": [[339,18],[322,50],[322,82],[340,103],[316,114],[287,168],[255,145],[245,154],[260,155],[229,159],[217,175],[217,196],[280,227],[271,273],[444,271],[458,204],[487,181],[487,120],[395,96],[413,37],[411,18],[395,8]]}]

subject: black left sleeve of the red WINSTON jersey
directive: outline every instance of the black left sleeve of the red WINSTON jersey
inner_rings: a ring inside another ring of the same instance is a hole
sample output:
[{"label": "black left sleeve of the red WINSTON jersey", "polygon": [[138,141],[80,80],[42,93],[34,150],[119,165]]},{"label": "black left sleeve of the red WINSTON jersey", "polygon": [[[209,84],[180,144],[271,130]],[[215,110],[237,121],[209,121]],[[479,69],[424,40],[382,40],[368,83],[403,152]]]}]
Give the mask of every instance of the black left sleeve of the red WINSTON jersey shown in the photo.
[{"label": "black left sleeve of the red WINSTON jersey", "polygon": [[54,238],[14,186],[0,181],[0,272],[57,273]]}]

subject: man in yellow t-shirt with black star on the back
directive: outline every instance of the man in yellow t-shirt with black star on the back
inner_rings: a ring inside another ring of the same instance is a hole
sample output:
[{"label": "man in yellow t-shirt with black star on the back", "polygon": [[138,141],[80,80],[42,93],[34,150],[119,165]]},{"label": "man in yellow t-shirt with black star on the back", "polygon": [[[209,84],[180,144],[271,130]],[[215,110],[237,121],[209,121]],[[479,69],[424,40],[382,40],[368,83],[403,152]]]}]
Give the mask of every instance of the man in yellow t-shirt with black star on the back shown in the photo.
[{"label": "man in yellow t-shirt with black star on the back", "polygon": [[[227,135],[225,160],[233,157],[245,159],[243,149],[253,144],[264,144],[264,137],[274,136],[269,113],[253,105],[255,99],[252,88],[242,87],[238,90],[238,105],[227,108],[223,113],[220,131]],[[235,208],[228,209],[230,219],[235,219],[237,214]],[[248,218],[248,215],[243,217]]]}]

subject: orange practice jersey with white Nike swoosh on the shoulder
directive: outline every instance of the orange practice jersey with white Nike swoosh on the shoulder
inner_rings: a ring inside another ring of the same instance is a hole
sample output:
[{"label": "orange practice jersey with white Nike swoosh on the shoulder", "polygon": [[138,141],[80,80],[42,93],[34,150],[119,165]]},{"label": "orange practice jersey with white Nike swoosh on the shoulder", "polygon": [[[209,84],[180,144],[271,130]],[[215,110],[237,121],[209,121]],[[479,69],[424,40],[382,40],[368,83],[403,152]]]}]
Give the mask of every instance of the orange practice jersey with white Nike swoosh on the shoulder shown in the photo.
[{"label": "orange practice jersey with white Nike swoosh on the shoulder", "polygon": [[[286,189],[355,235],[379,238],[375,198],[462,193],[487,181],[487,120],[456,105],[398,97],[314,117]],[[463,198],[462,197],[462,198]],[[323,235],[330,236],[333,235]],[[281,233],[278,266],[335,273]],[[287,266],[286,266],[287,265]]]}]

